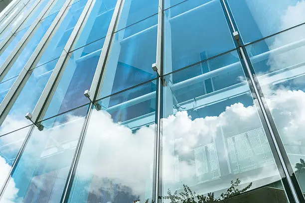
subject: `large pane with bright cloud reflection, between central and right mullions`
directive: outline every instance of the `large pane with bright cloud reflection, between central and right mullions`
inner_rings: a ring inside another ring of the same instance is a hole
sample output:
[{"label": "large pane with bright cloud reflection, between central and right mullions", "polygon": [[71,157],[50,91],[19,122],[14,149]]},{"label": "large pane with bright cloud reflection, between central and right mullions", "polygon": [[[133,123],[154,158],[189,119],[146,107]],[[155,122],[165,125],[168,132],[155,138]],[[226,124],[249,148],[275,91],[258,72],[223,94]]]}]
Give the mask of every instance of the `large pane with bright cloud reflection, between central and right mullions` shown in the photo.
[{"label": "large pane with bright cloud reflection, between central and right mullions", "polygon": [[[213,68],[202,73],[206,67]],[[244,192],[262,187],[268,194],[273,187],[270,193],[278,192],[283,199],[265,195],[269,199],[264,202],[288,202],[236,51],[167,75],[165,81],[163,197],[169,197],[169,190],[185,200],[180,192],[186,189],[190,195],[190,189],[202,199],[213,193],[208,200],[217,202],[241,193],[221,196],[235,182],[235,188]],[[250,192],[232,203],[245,201],[245,196],[257,200],[259,194]]]}]

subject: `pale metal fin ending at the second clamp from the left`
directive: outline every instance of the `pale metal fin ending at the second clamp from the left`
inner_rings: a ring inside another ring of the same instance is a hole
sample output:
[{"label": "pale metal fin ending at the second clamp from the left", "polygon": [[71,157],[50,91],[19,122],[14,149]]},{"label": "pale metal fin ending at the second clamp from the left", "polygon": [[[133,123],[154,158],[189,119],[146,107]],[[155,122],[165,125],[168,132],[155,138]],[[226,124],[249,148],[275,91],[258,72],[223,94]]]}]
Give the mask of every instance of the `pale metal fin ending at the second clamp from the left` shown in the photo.
[{"label": "pale metal fin ending at the second clamp from the left", "polygon": [[[112,46],[112,39],[113,39],[113,33],[118,25],[119,17],[122,12],[122,7],[125,3],[125,0],[118,0],[114,13],[111,18],[110,25],[108,27],[107,35],[105,38],[105,42],[103,45],[103,49],[99,58],[98,65],[96,67],[96,71],[91,83],[90,90],[86,90],[84,95],[87,97],[90,102],[95,102],[98,95],[99,91],[101,89],[101,84],[103,84],[103,80],[105,77],[105,72],[106,72],[106,65],[107,65],[107,60],[108,60],[108,55],[111,50]],[[100,106],[98,103],[95,103],[96,107],[100,109]]]}]

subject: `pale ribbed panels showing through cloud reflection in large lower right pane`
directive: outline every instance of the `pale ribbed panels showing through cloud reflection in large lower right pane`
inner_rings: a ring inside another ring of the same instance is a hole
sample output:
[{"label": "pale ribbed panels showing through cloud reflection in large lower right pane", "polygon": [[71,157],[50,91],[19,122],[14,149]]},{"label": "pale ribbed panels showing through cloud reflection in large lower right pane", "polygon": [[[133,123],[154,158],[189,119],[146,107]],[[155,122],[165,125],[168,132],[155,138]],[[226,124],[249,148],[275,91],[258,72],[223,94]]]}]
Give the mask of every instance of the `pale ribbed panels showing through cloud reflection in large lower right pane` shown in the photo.
[{"label": "pale ribbed panels showing through cloud reflection in large lower right pane", "polygon": [[[213,136],[212,143],[192,150],[197,181],[191,185],[194,186],[217,179],[228,179],[229,181],[234,174],[259,173],[264,167],[275,164],[262,128],[231,136],[226,140],[224,140],[224,137],[225,135],[221,130],[221,134],[218,133],[217,136]],[[220,150],[217,147],[223,147],[224,149]],[[179,155],[175,154],[174,182],[179,185],[179,188],[182,188],[185,183],[180,178],[179,161]]]}]

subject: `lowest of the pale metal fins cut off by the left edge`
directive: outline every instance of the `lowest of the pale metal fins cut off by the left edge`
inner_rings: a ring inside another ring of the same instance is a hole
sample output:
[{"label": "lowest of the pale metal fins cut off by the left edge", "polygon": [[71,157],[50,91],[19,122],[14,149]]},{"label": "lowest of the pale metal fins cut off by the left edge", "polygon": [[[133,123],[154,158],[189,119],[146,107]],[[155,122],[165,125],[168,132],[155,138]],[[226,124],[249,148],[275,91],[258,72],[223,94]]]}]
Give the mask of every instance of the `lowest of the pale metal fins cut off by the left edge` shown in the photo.
[{"label": "lowest of the pale metal fins cut off by the left edge", "polygon": [[[11,106],[18,98],[20,92],[23,89],[23,86],[26,84],[27,80],[29,79],[29,75],[27,74],[30,68],[36,64],[36,62],[39,60],[38,55],[41,53],[42,49],[45,47],[47,42],[52,39],[52,33],[56,32],[58,27],[60,26],[60,21],[63,20],[63,18],[67,14],[67,8],[72,0],[66,0],[66,2],[63,4],[61,9],[59,10],[58,14],[56,15],[55,19],[53,20],[52,24],[42,37],[41,41],[37,45],[36,49],[34,50],[33,54],[27,61],[26,65],[22,69],[21,73],[17,77],[16,81],[4,97],[3,101],[0,104],[0,125],[4,121],[7,113],[9,112]],[[54,1],[55,2],[55,1]]]}]

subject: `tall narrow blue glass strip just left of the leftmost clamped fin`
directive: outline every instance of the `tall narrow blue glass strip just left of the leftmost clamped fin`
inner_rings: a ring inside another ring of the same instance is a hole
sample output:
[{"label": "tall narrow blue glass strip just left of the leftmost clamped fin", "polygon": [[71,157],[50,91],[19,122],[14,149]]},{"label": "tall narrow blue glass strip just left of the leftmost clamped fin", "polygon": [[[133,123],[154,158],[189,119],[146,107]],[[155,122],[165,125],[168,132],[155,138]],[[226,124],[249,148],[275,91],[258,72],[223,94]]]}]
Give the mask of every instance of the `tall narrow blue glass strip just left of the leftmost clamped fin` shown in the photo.
[{"label": "tall narrow blue glass strip just left of the leftmost clamped fin", "polygon": [[80,0],[68,6],[67,13],[60,24],[57,25],[56,32],[46,42],[14,95],[10,103],[11,108],[8,106],[8,112],[2,115],[5,118],[1,123],[0,133],[11,132],[31,124],[29,120],[25,119],[24,115],[27,112],[32,112],[38,102],[86,3],[87,0]]}]

